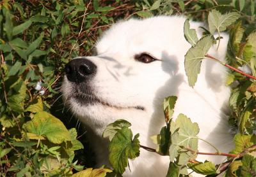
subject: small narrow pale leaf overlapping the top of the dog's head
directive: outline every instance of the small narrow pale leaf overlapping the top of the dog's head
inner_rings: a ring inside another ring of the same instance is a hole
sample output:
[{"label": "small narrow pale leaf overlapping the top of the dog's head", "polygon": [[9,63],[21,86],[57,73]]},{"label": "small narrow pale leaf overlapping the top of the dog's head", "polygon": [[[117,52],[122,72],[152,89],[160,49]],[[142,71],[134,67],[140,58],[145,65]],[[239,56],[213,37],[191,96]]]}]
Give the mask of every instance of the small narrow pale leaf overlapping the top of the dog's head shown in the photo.
[{"label": "small narrow pale leaf overlapping the top of the dog's head", "polygon": [[184,22],[184,36],[186,38],[186,40],[192,45],[195,46],[198,38],[197,38],[197,34],[196,34],[196,30],[195,29],[190,29],[190,25],[189,25],[189,19],[187,19]]}]

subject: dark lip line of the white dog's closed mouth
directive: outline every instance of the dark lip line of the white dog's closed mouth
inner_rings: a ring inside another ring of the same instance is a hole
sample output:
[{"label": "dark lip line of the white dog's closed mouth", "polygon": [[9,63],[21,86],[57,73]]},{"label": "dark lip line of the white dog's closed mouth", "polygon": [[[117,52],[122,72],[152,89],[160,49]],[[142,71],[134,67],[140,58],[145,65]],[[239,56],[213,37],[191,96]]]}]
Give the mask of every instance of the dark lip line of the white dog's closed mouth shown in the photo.
[{"label": "dark lip line of the white dog's closed mouth", "polygon": [[[102,99],[99,99],[99,97],[94,96],[93,94],[83,94],[83,93],[76,93],[74,94],[72,97],[74,97],[74,99],[76,99],[76,101],[78,101],[80,104],[93,104],[93,103],[100,103],[104,106],[108,106],[110,108],[116,108],[118,110],[123,110],[123,109],[136,109],[136,110],[140,110],[140,111],[145,111],[145,108],[143,106],[116,106],[113,104],[109,104],[106,101],[102,101]],[[81,98],[83,100],[81,100]]]}]

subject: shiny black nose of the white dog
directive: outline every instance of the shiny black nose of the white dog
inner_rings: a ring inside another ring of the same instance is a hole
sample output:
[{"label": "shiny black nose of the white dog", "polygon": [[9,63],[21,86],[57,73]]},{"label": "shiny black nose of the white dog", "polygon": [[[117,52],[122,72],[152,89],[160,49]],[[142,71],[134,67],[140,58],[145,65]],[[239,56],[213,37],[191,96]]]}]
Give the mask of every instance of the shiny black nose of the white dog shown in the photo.
[{"label": "shiny black nose of the white dog", "polygon": [[96,73],[95,64],[88,59],[74,59],[65,66],[65,73],[69,81],[81,83],[88,76]]}]

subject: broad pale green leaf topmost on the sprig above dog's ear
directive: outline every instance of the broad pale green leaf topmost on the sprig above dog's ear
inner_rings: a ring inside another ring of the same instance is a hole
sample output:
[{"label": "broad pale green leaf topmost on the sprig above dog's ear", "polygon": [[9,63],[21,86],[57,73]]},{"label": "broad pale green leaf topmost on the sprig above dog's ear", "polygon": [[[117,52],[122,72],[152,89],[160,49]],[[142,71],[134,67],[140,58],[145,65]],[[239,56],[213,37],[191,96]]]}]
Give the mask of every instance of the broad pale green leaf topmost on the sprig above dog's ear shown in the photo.
[{"label": "broad pale green leaf topmost on the sprig above dog's ear", "polygon": [[220,31],[224,31],[229,25],[236,22],[238,18],[240,18],[240,14],[237,12],[221,15],[219,11],[212,10],[208,15],[209,31],[211,34],[214,34],[216,30],[220,33]]}]

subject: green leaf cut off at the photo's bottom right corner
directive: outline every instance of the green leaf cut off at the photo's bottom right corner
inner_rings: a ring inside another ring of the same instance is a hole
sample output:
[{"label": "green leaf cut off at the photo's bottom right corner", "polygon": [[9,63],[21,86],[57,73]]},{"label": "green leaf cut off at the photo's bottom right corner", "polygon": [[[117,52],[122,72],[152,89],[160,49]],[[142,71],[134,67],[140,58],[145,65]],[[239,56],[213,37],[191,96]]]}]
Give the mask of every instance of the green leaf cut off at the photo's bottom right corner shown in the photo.
[{"label": "green leaf cut off at the photo's bottom right corner", "polygon": [[256,174],[256,156],[254,153],[247,153],[242,159],[241,176],[255,176]]}]

